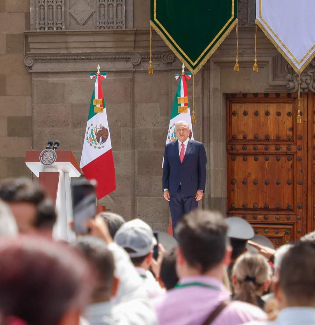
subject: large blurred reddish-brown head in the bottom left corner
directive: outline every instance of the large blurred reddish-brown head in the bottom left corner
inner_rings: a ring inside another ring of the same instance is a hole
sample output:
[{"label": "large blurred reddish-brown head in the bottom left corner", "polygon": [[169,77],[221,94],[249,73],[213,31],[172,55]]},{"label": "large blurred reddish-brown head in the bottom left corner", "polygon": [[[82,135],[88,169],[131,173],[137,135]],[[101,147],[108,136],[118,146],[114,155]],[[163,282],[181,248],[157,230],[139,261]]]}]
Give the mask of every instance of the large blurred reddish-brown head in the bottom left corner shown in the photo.
[{"label": "large blurred reddish-brown head in the bottom left corner", "polygon": [[44,238],[0,239],[4,323],[77,325],[93,288],[90,268],[70,247]]}]

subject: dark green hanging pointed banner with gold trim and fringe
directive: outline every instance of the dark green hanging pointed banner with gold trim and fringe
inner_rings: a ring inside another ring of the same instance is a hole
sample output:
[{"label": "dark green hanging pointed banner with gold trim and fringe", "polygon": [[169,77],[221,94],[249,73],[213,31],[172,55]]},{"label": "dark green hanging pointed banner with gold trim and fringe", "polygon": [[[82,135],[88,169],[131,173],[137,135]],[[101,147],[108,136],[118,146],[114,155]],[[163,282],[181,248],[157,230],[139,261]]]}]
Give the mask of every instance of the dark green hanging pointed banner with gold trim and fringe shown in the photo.
[{"label": "dark green hanging pointed banner with gold trim and fringe", "polygon": [[150,25],[196,74],[237,24],[237,0],[151,0]]}]

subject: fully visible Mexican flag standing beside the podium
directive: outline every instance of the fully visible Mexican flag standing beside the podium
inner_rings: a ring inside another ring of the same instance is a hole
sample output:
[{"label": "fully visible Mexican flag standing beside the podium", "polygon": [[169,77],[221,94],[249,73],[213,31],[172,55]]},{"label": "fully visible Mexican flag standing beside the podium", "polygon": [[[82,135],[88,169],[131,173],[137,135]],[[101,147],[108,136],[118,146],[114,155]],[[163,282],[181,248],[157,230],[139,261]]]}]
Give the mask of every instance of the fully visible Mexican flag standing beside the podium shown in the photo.
[{"label": "fully visible Mexican flag standing beside the podium", "polygon": [[95,80],[90,110],[87,118],[80,168],[86,179],[97,181],[96,195],[101,199],[116,189],[115,166],[112,153],[106,106],[101,80],[106,72],[91,73]]}]

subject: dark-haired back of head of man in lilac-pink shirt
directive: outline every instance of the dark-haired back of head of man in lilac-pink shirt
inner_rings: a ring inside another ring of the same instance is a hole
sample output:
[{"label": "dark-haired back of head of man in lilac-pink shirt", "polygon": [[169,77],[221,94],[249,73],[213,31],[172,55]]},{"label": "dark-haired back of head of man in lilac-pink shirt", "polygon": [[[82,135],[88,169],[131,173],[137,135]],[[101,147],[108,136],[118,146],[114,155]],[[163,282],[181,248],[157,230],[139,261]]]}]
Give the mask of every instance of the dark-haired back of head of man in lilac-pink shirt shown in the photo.
[{"label": "dark-haired back of head of man in lilac-pink shirt", "polygon": [[185,215],[176,227],[179,278],[215,274],[223,279],[224,267],[230,264],[231,257],[227,230],[218,212],[194,210]]}]

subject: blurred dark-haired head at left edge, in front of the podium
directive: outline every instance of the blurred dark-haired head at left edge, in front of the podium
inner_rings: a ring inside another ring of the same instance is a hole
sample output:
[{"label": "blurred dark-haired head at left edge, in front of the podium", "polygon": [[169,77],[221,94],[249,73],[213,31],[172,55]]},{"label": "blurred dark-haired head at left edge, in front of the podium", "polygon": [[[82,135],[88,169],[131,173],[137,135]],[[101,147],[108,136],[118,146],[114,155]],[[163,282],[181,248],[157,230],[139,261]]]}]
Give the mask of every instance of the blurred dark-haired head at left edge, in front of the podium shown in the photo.
[{"label": "blurred dark-haired head at left edge, in front of the podium", "polygon": [[7,180],[0,185],[0,199],[10,207],[19,233],[42,232],[51,237],[55,206],[36,183],[23,178]]}]

